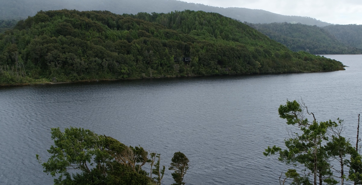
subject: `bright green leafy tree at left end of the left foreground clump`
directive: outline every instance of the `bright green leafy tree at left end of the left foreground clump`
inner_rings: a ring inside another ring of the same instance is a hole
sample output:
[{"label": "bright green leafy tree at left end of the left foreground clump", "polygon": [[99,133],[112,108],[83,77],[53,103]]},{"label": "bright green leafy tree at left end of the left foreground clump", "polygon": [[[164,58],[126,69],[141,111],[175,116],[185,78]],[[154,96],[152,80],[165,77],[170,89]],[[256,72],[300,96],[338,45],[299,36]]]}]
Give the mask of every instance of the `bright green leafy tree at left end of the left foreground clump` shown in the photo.
[{"label": "bright green leafy tree at left end of the left foreground clump", "polygon": [[[95,165],[100,174],[105,173],[105,166],[110,158],[101,151],[102,136],[81,128],[66,128],[64,133],[59,128],[52,128],[51,138],[54,145],[48,152],[52,156],[42,166],[45,168],[44,172],[52,176],[59,175],[58,179],[54,179],[54,184],[64,184],[70,182],[72,177],[76,179],[78,176],[88,175]],[[94,164],[92,158],[96,154],[97,161]],[[39,159],[38,155],[37,158]],[[71,170],[78,171],[78,175],[72,176]]]}]

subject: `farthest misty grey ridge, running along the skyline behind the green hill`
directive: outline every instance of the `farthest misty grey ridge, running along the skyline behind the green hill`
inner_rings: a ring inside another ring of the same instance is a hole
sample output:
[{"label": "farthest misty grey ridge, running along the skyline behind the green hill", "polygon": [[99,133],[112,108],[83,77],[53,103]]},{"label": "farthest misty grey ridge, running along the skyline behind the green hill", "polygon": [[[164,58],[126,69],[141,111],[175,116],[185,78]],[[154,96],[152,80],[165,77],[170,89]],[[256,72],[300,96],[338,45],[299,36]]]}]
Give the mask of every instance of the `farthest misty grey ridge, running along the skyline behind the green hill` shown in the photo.
[{"label": "farthest misty grey ridge, running along the skyline behind the green hill", "polygon": [[186,3],[177,0],[1,0],[0,19],[18,19],[34,16],[40,10],[76,9],[108,10],[116,14],[168,13],[174,10],[202,10],[216,12],[223,16],[237,19],[241,22],[272,23],[288,22],[306,25],[328,26],[310,17],[283,16],[265,10],[247,8],[220,8],[203,4]]}]

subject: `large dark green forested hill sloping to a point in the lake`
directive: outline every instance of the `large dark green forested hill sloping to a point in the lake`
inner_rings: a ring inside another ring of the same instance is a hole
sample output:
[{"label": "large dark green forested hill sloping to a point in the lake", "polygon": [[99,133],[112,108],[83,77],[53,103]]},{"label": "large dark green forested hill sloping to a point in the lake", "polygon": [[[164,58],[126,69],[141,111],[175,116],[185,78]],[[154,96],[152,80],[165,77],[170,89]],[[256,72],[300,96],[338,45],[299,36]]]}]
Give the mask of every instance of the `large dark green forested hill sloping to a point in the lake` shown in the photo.
[{"label": "large dark green forested hill sloping to a point in the lake", "polygon": [[342,63],[201,11],[47,11],[0,35],[1,84],[333,70]]}]

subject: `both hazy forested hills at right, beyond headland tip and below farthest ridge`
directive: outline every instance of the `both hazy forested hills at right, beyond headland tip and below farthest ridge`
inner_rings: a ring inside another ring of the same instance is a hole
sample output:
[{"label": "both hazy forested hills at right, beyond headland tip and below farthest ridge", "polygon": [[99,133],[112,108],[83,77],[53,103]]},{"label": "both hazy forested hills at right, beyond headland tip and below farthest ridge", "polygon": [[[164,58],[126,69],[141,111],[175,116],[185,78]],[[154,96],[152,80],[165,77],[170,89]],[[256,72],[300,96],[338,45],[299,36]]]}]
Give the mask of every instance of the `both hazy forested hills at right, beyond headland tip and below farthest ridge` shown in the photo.
[{"label": "both hazy forested hills at right, beyond headland tip and below farthest ridge", "polygon": [[[252,24],[249,26],[290,50],[312,54],[362,54],[362,26],[330,25],[317,27],[292,23]],[[359,39],[355,39],[359,38]]]}]

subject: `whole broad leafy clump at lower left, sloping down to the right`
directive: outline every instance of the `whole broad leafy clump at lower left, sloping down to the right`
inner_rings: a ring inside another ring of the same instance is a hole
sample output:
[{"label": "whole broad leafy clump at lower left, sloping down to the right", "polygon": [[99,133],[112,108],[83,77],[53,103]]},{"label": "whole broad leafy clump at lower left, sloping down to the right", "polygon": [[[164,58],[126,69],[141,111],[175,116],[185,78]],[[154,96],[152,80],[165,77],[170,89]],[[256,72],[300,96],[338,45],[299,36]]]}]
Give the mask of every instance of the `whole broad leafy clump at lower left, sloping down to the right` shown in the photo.
[{"label": "whole broad leafy clump at lower left, sloping down to the right", "polygon": [[[44,172],[52,176],[54,184],[129,184],[146,185],[153,182],[140,169],[145,152],[142,147],[127,147],[108,136],[83,128],[51,129],[54,145],[51,157],[42,163]],[[147,156],[147,152],[146,152]],[[36,156],[40,162],[39,155]]]}]

